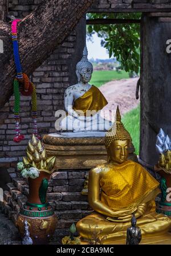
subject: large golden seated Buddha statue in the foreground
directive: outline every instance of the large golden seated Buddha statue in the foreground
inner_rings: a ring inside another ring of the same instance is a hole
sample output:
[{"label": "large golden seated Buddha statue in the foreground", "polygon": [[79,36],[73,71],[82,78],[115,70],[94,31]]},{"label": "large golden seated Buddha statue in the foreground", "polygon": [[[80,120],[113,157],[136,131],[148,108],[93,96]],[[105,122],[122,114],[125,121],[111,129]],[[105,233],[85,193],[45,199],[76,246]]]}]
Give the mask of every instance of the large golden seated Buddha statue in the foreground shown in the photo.
[{"label": "large golden seated Buddha statue in the foreground", "polygon": [[125,244],[132,214],[141,229],[141,243],[171,243],[171,219],[156,213],[159,183],[143,166],[128,160],[130,144],[117,108],[115,123],[105,135],[108,163],[89,172],[88,201],[95,212],[76,225],[83,243],[96,233],[105,237],[104,244]]}]

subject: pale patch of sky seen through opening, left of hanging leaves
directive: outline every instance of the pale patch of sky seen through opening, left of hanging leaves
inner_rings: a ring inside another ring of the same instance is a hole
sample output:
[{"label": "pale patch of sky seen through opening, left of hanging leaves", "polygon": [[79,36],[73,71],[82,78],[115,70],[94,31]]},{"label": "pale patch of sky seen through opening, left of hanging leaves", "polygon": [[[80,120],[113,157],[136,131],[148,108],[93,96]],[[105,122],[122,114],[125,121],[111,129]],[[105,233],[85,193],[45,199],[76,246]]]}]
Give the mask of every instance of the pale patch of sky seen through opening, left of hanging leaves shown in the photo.
[{"label": "pale patch of sky seen through opening, left of hanging leaves", "polygon": [[87,40],[88,59],[109,59],[109,54],[104,47],[101,47],[101,39],[97,33],[92,35],[92,42]]}]

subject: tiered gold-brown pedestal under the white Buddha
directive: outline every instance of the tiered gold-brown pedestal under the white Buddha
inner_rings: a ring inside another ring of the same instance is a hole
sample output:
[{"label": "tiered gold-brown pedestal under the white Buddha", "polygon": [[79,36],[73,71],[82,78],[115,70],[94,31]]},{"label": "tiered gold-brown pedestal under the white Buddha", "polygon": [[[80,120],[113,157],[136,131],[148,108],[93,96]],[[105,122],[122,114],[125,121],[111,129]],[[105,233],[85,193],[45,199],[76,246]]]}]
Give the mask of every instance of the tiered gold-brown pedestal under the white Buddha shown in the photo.
[{"label": "tiered gold-brown pedestal under the white Buddha", "polygon": [[103,137],[56,137],[45,135],[48,156],[56,156],[56,169],[91,169],[107,162]]}]

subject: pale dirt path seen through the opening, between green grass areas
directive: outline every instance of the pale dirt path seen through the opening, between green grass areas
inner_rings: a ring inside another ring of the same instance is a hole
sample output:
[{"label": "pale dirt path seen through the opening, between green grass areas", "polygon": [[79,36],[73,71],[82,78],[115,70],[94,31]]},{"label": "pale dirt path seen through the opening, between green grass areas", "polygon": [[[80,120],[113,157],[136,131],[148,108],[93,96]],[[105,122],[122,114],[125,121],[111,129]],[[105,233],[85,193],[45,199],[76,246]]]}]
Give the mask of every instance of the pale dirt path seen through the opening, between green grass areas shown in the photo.
[{"label": "pale dirt path seen through the opening, between green grass areas", "polygon": [[136,85],[139,78],[121,79],[108,82],[99,89],[108,100],[104,109],[116,110],[119,105],[121,115],[136,108],[140,100],[136,100]]}]

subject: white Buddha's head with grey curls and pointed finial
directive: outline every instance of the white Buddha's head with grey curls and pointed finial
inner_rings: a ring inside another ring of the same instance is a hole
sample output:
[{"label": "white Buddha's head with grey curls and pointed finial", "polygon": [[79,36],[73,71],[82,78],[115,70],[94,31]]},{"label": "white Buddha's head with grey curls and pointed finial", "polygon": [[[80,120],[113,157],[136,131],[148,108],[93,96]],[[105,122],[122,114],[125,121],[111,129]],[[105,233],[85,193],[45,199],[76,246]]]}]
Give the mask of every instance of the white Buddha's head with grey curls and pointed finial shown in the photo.
[{"label": "white Buddha's head with grey curls and pointed finial", "polygon": [[88,51],[87,46],[83,50],[83,58],[76,65],[76,75],[78,77],[78,82],[87,84],[91,80],[93,66],[91,62],[88,61]]}]

